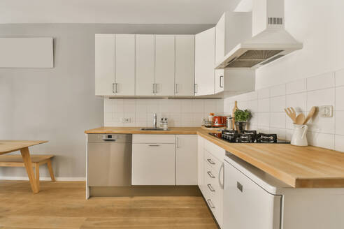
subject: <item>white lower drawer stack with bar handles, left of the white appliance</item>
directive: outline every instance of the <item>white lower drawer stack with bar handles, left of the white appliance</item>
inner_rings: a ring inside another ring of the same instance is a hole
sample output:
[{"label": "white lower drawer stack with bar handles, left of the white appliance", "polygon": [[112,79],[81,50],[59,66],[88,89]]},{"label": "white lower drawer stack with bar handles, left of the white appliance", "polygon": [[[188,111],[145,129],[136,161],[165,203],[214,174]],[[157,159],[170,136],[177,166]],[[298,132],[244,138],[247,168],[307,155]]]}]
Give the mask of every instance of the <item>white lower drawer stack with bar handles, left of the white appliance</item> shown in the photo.
[{"label": "white lower drawer stack with bar handles, left of the white appliance", "polygon": [[[223,158],[225,151],[204,138],[199,137],[199,142],[203,145],[203,150],[201,150],[203,153],[203,163],[199,161],[199,172],[203,175],[203,177],[201,177],[203,180],[199,180],[199,187],[217,223],[222,228],[224,185]],[[199,147],[201,147],[200,143]]]}]

